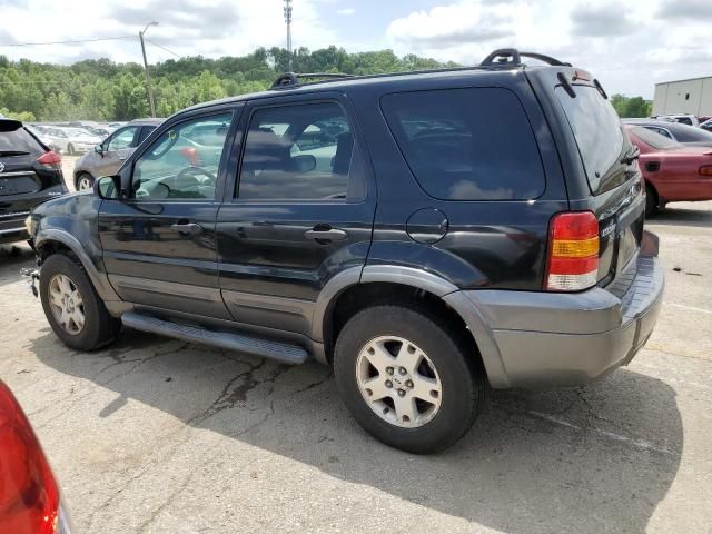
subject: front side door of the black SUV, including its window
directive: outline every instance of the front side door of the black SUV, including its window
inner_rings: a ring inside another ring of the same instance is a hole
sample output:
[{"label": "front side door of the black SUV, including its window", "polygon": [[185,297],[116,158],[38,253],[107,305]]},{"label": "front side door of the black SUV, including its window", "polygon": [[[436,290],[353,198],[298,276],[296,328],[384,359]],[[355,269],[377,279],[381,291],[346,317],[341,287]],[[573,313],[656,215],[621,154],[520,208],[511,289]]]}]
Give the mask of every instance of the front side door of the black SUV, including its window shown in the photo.
[{"label": "front side door of the black SUV, including its window", "polygon": [[127,199],[105,200],[99,233],[109,280],[127,301],[227,318],[215,221],[237,110],[174,120],[122,170]]}]

